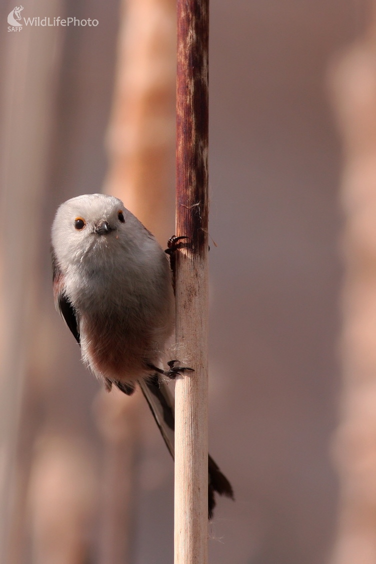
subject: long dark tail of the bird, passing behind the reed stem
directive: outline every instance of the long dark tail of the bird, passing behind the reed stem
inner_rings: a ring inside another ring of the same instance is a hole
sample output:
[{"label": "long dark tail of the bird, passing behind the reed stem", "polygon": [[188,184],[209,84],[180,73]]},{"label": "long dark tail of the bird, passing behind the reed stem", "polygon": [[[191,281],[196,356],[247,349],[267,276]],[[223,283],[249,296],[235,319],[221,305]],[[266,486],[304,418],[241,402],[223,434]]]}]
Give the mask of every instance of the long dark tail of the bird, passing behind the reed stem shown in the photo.
[{"label": "long dark tail of the bird, passing behind the reed stem", "polygon": [[[154,374],[148,380],[139,381],[139,385],[145,399],[148,402],[149,408],[153,413],[153,417],[158,425],[163,440],[170,451],[172,458],[174,458],[174,429],[175,429],[175,416],[174,416],[174,398],[170,393],[165,382],[158,374]],[[232,486],[228,479],[222,474],[218,465],[209,455],[208,458],[208,510],[209,518],[213,516],[213,509],[215,507],[214,493],[219,495],[231,497],[234,499]]]}]

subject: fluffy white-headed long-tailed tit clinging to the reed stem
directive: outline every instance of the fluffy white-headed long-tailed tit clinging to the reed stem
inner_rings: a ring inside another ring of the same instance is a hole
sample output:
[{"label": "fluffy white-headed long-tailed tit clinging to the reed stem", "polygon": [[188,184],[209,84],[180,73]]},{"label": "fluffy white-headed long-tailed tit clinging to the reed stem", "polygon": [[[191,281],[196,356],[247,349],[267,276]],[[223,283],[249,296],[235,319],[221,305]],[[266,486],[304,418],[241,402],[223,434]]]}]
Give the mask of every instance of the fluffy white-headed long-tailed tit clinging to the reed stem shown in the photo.
[{"label": "fluffy white-headed long-tailed tit clinging to the reed stem", "polygon": [[[161,246],[121,200],[103,194],[61,204],[52,225],[56,309],[82,359],[107,390],[131,395],[138,384],[174,457],[174,399],[161,368],[174,329],[175,298]],[[233,497],[231,484],[209,456],[209,515],[214,492]]]}]

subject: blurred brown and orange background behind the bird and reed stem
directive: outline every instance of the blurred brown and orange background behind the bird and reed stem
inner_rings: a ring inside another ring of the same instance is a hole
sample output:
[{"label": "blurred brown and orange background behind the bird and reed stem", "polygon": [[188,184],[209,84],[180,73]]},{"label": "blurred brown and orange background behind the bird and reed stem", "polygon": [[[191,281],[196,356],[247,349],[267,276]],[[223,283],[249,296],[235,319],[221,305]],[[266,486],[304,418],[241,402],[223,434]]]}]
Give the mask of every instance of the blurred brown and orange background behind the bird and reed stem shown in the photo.
[{"label": "blurred brown and orange background behind the bird and reed stem", "polygon": [[[173,560],[173,465],[54,309],[50,228],[105,191],[174,232],[172,0],[0,6],[0,561]],[[366,0],[210,7],[217,564],[376,563],[376,27]]]}]

